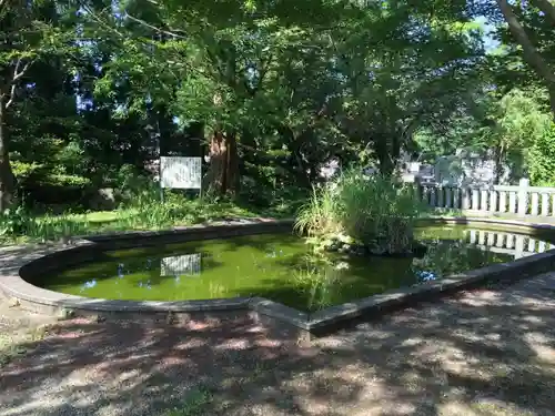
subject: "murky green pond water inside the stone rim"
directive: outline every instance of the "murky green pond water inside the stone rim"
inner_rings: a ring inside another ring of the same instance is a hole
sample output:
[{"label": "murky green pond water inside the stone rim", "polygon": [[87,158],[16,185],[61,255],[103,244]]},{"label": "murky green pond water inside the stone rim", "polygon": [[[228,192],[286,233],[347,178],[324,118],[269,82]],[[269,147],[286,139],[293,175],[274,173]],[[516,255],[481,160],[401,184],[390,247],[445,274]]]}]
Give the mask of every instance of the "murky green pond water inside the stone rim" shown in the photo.
[{"label": "murky green pond water inside the stone rim", "polygon": [[189,242],[105,252],[94,262],[32,283],[62,293],[110,300],[263,296],[312,312],[514,260],[511,250],[502,248],[500,253],[487,243],[503,246],[506,240],[508,246],[508,239],[518,236],[503,233],[491,237],[480,233],[484,232],[462,226],[418,229],[416,237],[427,246],[421,258],[340,254],[316,257],[303,239],[290,234]]}]

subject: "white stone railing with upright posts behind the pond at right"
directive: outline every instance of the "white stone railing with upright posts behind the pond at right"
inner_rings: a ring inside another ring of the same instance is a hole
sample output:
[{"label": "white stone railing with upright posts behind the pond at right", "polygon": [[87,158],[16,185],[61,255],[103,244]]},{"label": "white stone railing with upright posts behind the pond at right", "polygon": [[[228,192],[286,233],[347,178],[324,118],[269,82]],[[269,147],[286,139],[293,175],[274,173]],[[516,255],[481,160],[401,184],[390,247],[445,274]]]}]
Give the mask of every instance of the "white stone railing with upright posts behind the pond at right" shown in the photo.
[{"label": "white stone railing with upright posts behind the pond at right", "polygon": [[421,184],[420,194],[430,206],[518,216],[555,217],[555,187],[514,185],[455,186]]}]

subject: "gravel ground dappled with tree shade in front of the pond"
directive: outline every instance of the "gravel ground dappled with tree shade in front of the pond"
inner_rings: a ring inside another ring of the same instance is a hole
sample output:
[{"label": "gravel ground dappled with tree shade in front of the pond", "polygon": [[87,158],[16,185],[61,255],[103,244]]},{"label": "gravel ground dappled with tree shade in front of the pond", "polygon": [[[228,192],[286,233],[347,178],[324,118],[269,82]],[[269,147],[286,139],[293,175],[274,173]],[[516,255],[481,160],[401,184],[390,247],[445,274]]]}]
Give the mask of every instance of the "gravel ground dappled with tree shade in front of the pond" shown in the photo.
[{"label": "gravel ground dappled with tree shade in front of the pond", "polygon": [[311,347],[250,322],[141,317],[65,321],[24,349],[0,367],[0,416],[549,416],[555,273]]}]

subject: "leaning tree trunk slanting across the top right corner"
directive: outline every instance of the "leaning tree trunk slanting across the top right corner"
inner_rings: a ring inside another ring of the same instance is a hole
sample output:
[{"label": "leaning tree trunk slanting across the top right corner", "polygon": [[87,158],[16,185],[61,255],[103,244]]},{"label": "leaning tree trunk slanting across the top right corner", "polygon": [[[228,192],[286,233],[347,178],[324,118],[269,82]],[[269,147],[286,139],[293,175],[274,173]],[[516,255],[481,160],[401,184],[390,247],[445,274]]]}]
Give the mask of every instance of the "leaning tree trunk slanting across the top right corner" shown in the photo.
[{"label": "leaning tree trunk slanting across the top right corner", "polygon": [[[515,38],[516,42],[522,47],[524,59],[528,62],[532,69],[536,72],[536,74],[542,79],[547,91],[549,93],[549,102],[553,119],[555,120],[555,71],[553,68],[549,68],[549,64],[542,57],[539,51],[536,49],[534,43],[532,43],[526,30],[518,21],[515,12],[513,11],[512,6],[507,0],[495,0],[497,6],[505,18],[505,21],[508,24],[508,29],[511,33]],[[539,1],[538,6],[542,6],[544,9],[544,13],[546,16],[552,17],[553,4],[546,1]],[[549,7],[551,6],[551,7]]]}]

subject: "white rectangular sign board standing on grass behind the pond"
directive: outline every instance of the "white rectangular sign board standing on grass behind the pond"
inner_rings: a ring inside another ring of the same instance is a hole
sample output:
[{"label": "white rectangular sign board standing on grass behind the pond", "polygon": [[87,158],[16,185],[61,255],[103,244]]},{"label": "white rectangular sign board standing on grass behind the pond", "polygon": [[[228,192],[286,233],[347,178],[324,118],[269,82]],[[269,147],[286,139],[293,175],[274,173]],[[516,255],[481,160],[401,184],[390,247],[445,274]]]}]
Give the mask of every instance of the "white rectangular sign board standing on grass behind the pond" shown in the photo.
[{"label": "white rectangular sign board standing on grass behind the pond", "polygon": [[201,158],[160,158],[160,185],[179,190],[201,189]]}]

